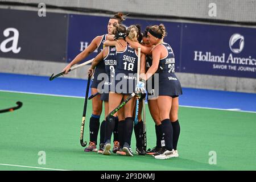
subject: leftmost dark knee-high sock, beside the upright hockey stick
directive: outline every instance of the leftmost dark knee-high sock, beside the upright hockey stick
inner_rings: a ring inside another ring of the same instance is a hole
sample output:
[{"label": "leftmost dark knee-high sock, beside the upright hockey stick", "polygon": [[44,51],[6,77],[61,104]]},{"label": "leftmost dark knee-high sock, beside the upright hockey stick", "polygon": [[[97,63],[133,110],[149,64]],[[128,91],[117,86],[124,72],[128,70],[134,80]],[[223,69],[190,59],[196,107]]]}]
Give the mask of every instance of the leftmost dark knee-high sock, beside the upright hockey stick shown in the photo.
[{"label": "leftmost dark knee-high sock, beside the upright hockey stick", "polygon": [[100,129],[100,115],[93,115],[90,117],[90,142],[97,144],[98,130]]}]

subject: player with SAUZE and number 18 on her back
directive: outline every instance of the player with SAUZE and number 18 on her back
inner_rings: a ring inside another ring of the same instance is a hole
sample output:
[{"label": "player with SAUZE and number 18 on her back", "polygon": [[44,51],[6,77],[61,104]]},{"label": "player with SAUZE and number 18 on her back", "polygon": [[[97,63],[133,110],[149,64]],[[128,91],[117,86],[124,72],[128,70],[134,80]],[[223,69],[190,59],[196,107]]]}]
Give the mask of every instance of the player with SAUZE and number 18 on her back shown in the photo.
[{"label": "player with SAUZE and number 18 on her back", "polygon": [[[127,36],[132,41],[137,41],[139,34],[141,34],[138,28],[134,25],[127,28]],[[123,34],[117,34],[117,39],[124,39]],[[120,37],[119,37],[120,36]],[[106,46],[115,46],[117,51],[117,67],[115,69],[115,79],[114,83],[110,88],[109,93],[109,113],[117,107],[122,100],[125,100],[130,96],[131,93],[135,92],[135,85],[137,83],[137,67],[138,67],[138,53],[134,48],[131,48],[129,45],[126,47],[121,47],[117,42],[106,41],[104,43]],[[145,55],[141,54],[141,73],[144,73],[145,67]],[[131,151],[131,134],[133,132],[133,111],[135,106],[135,97],[133,97],[124,108],[125,122],[118,123],[118,129],[122,127],[123,135],[123,145],[122,151],[128,156],[133,156],[133,151]],[[116,115],[117,113],[115,113]],[[106,118],[106,133],[105,133],[105,147],[104,155],[110,155],[110,138],[113,133],[114,125],[113,120],[114,116]],[[120,126],[120,124],[122,125]],[[121,142],[121,141],[120,141]]]}]

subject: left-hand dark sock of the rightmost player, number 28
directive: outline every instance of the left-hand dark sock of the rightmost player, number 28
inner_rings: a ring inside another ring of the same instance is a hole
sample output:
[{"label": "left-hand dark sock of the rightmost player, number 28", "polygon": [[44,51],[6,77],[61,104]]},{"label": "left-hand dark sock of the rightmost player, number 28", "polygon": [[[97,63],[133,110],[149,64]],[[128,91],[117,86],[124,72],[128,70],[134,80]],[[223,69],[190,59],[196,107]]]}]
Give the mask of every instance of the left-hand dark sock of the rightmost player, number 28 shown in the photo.
[{"label": "left-hand dark sock of the rightmost player, number 28", "polygon": [[[170,119],[164,119],[161,121],[162,123],[162,142],[164,140],[165,148],[167,150],[172,150],[172,135],[173,135],[173,130],[172,130],[172,124]],[[163,144],[163,143],[162,143]]]}]

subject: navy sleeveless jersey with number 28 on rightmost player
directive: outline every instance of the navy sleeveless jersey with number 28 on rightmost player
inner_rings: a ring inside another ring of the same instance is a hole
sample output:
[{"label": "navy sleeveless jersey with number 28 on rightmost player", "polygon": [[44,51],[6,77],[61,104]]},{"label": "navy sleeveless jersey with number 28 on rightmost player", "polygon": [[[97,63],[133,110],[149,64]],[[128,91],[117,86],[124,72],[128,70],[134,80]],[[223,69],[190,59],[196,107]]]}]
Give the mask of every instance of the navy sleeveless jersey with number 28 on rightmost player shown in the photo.
[{"label": "navy sleeveless jersey with number 28 on rightmost player", "polygon": [[168,55],[163,59],[159,60],[158,71],[156,73],[174,73],[175,72],[175,59],[174,59],[174,51],[167,43],[162,43],[164,47],[166,47],[168,51]]}]

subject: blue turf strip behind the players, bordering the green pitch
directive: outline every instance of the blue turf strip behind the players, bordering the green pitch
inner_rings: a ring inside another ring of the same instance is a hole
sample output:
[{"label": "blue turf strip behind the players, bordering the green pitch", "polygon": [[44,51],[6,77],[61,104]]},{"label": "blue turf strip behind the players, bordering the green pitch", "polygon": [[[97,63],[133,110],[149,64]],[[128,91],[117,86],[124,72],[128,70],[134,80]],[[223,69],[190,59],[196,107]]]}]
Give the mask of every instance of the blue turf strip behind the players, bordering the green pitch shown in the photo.
[{"label": "blue turf strip behind the players, bordering the green pitch", "polygon": [[[0,90],[84,97],[86,80],[0,73]],[[182,82],[181,82],[182,85]],[[90,94],[89,94],[90,95]],[[183,88],[181,106],[256,111],[256,94]]]}]

